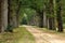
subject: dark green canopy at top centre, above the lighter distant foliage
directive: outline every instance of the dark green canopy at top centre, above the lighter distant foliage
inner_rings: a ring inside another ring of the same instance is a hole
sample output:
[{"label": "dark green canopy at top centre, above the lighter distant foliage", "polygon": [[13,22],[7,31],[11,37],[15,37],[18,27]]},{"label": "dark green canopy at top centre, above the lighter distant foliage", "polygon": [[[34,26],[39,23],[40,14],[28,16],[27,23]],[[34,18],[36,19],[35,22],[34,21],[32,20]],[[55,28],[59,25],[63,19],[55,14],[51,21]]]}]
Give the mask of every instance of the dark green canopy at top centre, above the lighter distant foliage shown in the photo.
[{"label": "dark green canopy at top centre, above the lighter distant foliage", "polygon": [[44,0],[21,0],[21,2],[22,2],[22,8],[32,6],[35,9],[42,10]]}]

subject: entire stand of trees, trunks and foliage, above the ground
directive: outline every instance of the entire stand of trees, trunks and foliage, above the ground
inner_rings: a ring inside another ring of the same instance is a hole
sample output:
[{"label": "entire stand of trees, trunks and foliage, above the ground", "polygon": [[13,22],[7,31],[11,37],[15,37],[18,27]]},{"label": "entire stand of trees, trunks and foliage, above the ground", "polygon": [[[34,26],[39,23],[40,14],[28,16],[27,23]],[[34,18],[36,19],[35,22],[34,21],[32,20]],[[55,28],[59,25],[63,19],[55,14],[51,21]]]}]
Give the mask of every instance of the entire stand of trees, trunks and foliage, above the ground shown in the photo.
[{"label": "entire stand of trees, trunks and foliage, above the ground", "polygon": [[65,0],[0,0],[0,32],[23,24],[63,32]]}]

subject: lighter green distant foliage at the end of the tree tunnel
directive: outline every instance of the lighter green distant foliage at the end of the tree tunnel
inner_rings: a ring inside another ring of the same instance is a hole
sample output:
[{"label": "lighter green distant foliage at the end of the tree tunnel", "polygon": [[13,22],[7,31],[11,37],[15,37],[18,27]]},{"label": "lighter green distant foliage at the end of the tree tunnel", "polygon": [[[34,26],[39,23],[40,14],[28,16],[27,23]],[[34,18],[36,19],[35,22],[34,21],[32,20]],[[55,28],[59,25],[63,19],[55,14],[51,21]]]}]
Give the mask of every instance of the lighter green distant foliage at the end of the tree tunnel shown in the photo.
[{"label": "lighter green distant foliage at the end of the tree tunnel", "polygon": [[[20,18],[21,23],[23,22],[23,19],[26,19],[26,22],[29,23],[31,20],[31,18],[34,17],[35,13],[36,13],[35,10],[31,10],[31,9],[28,9],[28,8],[23,9],[22,13],[21,13],[22,16]],[[24,15],[26,15],[26,16],[24,16]]]}]

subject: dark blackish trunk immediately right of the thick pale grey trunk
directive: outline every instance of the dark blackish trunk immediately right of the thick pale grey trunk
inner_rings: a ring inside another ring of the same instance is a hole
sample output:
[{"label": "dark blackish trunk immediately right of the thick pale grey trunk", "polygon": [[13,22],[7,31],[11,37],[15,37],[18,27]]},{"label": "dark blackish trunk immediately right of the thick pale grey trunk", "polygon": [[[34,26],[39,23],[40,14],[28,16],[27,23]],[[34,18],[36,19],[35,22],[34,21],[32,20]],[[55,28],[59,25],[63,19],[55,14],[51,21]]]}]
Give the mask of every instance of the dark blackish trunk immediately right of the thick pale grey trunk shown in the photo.
[{"label": "dark blackish trunk immediately right of the thick pale grey trunk", "polygon": [[13,27],[13,17],[12,17],[12,5],[11,5],[12,0],[8,0],[8,29],[6,31],[12,32],[12,27]]}]

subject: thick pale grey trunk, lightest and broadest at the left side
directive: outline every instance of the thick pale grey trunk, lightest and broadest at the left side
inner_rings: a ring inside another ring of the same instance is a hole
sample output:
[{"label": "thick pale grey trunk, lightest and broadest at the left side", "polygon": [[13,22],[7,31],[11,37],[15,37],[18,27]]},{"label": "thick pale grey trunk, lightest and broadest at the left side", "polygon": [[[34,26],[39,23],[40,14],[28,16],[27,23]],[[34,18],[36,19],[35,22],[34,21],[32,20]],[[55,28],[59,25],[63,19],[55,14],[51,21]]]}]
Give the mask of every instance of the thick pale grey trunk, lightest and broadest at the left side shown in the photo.
[{"label": "thick pale grey trunk, lightest and broadest at the left side", "polygon": [[4,31],[6,28],[8,28],[8,0],[4,0],[4,5],[3,5],[3,20],[2,20],[2,23],[3,23],[3,28],[4,29],[2,29],[2,31]]}]

